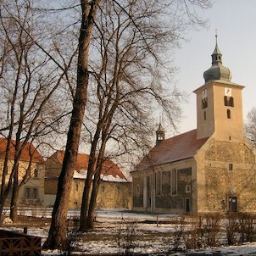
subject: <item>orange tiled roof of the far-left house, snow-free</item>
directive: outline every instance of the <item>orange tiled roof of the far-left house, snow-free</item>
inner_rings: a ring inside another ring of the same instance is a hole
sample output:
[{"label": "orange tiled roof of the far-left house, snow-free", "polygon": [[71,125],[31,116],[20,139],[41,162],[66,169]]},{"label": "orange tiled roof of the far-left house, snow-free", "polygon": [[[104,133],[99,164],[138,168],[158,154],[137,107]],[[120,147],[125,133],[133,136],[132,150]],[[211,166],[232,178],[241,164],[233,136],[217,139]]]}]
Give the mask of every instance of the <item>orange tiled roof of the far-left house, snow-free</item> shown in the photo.
[{"label": "orange tiled roof of the far-left house, snow-free", "polygon": [[[6,147],[7,147],[8,140],[6,138],[0,137],[0,158],[3,159],[5,157]],[[19,142],[20,146],[23,145],[23,142]],[[14,159],[15,154],[15,141],[12,140],[10,152],[9,152],[9,159]],[[44,159],[42,155],[36,150],[30,142],[25,144],[24,149],[21,152],[20,160],[22,161],[30,161],[32,155],[32,159],[34,163],[44,163]]]}]

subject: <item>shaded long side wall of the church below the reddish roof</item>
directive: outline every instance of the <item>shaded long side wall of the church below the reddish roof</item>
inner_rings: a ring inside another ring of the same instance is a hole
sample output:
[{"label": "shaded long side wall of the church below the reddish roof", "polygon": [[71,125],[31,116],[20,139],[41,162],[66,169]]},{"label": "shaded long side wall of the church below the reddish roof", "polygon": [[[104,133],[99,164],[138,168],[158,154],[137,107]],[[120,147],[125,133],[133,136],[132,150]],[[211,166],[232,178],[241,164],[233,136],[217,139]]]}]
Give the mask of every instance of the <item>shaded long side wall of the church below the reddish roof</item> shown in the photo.
[{"label": "shaded long side wall of the church below the reddish roof", "polygon": [[197,209],[193,184],[195,166],[193,159],[185,159],[154,167],[153,170],[133,172],[132,209],[153,213],[182,214],[186,210],[194,213]]}]

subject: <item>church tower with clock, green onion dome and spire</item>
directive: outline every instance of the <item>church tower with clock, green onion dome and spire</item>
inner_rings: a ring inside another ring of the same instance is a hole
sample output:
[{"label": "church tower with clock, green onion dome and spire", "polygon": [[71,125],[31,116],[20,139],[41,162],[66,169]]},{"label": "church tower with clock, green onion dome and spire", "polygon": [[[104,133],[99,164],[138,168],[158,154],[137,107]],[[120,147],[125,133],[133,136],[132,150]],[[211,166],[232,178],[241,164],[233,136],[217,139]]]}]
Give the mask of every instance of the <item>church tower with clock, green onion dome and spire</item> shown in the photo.
[{"label": "church tower with clock, green onion dome and spire", "polygon": [[231,82],[231,71],[222,65],[217,36],[212,66],[203,73],[205,83],[197,94],[198,139],[214,133],[219,141],[243,141],[242,89]]}]

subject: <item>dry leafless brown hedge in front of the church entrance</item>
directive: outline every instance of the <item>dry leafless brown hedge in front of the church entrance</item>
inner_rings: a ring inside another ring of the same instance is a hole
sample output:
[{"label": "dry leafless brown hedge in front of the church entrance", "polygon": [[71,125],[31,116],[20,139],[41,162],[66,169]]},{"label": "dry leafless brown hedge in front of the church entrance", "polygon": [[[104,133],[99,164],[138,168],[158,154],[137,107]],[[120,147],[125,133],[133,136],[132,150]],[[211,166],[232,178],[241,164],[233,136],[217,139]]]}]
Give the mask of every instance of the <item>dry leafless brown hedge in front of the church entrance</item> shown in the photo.
[{"label": "dry leafless brown hedge in front of the church entrance", "polygon": [[171,251],[256,241],[255,214],[203,214],[183,220],[186,220],[186,224],[180,221],[175,224]]}]

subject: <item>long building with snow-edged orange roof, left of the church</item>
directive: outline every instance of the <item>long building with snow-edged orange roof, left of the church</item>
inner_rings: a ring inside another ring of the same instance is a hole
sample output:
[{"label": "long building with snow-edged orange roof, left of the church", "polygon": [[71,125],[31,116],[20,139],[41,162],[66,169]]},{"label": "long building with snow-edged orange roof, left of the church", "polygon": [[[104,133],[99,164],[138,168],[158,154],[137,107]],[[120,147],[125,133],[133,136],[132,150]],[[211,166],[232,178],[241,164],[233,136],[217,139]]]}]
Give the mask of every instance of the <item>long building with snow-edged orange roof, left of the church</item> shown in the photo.
[{"label": "long building with snow-edged orange roof, left of the church", "polygon": [[[55,202],[58,176],[64,159],[64,151],[57,151],[46,161],[45,206]],[[70,209],[80,209],[85,186],[89,155],[78,153],[70,194]],[[103,162],[101,183],[97,194],[97,209],[131,209],[131,181],[111,159]]]}]

